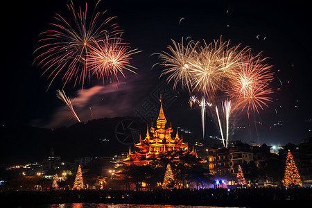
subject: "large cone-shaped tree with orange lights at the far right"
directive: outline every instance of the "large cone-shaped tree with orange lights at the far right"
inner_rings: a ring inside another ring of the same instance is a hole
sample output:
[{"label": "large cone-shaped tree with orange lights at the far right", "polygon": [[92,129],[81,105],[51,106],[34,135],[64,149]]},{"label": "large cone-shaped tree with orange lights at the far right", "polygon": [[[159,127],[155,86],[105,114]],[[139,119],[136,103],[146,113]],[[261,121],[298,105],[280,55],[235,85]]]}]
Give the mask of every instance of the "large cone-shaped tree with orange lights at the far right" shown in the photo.
[{"label": "large cone-shaped tree with orange lights at the far right", "polygon": [[288,150],[286,157],[286,167],[283,184],[285,187],[288,187],[291,184],[295,184],[296,186],[302,187],[300,175],[290,150]]}]

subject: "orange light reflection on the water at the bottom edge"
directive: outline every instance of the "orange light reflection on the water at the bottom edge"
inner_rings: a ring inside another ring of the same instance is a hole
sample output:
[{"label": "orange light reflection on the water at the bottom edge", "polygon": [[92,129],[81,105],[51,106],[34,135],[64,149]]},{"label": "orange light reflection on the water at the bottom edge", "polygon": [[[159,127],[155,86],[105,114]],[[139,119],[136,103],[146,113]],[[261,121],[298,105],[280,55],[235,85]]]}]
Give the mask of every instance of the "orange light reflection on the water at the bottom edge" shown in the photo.
[{"label": "orange light reflection on the water at the bottom edge", "polygon": [[101,204],[101,203],[71,203],[71,204],[42,205],[37,208],[162,208],[162,207],[165,207],[165,208],[220,208],[220,207],[187,206],[187,205],[136,205],[136,204],[112,205],[112,204]]}]

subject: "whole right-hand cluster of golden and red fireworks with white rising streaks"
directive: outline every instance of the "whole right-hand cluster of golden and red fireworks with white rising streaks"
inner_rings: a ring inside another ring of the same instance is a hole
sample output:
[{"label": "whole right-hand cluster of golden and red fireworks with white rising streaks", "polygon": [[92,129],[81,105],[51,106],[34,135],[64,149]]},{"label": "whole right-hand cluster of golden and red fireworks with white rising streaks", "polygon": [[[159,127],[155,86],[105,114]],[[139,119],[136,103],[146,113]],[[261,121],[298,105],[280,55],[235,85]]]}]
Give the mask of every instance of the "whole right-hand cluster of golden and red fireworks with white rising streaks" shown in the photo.
[{"label": "whole right-hand cluster of golden and red fireworks with white rising streaks", "polygon": [[[266,64],[261,53],[253,55],[248,47],[231,46],[229,41],[214,40],[210,44],[190,42],[187,46],[175,43],[168,46],[169,53],[159,55],[166,67],[162,72],[168,73],[167,81],[173,80],[174,87],[182,83],[189,92],[202,96],[198,101],[190,98],[190,106],[198,103],[201,107],[202,131],[205,135],[206,106],[216,106],[216,116],[223,145],[229,140],[229,119],[234,110],[250,109],[259,113],[259,108],[268,106],[272,89],[268,87],[272,80],[272,68]],[[222,102],[222,114],[217,107],[220,98],[230,100]],[[207,99],[208,102],[205,100]],[[233,105],[233,103],[235,105]],[[233,106],[232,106],[233,105]]]}]

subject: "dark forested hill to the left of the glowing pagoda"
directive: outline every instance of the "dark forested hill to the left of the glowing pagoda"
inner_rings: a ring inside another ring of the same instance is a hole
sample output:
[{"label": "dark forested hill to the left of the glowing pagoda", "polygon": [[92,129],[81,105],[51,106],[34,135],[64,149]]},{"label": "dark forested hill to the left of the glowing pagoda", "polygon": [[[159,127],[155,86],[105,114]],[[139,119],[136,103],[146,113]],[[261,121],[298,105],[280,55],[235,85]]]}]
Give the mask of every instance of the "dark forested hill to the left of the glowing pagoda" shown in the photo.
[{"label": "dark forested hill to the left of the glowing pagoda", "polygon": [[122,133],[133,136],[131,130],[125,130],[131,121],[134,121],[132,128],[146,134],[146,124],[135,117],[94,119],[53,130],[30,125],[1,126],[0,164],[42,162],[49,157],[51,148],[55,156],[64,161],[73,161],[75,157],[120,154],[129,149],[127,143],[131,138],[123,137]]}]

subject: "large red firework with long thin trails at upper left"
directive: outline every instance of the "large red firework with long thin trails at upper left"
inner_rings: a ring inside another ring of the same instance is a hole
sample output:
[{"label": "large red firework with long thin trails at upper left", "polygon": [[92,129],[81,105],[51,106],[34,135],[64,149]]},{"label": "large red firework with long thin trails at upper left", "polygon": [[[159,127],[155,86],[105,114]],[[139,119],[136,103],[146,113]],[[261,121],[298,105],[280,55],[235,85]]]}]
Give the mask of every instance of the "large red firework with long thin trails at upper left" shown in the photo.
[{"label": "large red firework with long thin trails at upper left", "polygon": [[[90,80],[91,72],[87,66],[87,55],[90,49],[107,35],[122,33],[117,24],[111,24],[114,17],[105,19],[105,12],[93,12],[91,18],[87,16],[87,3],[85,10],[73,8],[73,3],[67,5],[73,19],[67,20],[56,14],[55,23],[50,24],[51,29],[40,34],[41,44],[34,53],[40,53],[34,62],[49,73],[51,83],[57,76],[62,76],[64,85],[74,80],[82,83]],[[49,87],[51,85],[49,84]],[[48,87],[48,89],[49,89]]]}]

